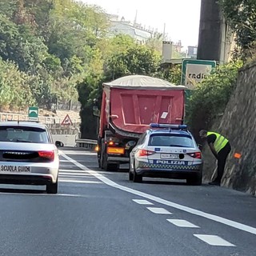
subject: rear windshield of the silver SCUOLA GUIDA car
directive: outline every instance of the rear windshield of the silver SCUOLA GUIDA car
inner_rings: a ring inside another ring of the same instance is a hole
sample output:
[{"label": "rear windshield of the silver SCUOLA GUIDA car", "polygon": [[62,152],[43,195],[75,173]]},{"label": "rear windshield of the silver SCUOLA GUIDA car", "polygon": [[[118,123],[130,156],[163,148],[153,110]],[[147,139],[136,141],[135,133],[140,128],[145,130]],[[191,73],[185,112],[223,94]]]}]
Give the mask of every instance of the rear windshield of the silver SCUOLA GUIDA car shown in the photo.
[{"label": "rear windshield of the silver SCUOLA GUIDA car", "polygon": [[0,126],[0,142],[49,143],[46,130],[28,126]]}]

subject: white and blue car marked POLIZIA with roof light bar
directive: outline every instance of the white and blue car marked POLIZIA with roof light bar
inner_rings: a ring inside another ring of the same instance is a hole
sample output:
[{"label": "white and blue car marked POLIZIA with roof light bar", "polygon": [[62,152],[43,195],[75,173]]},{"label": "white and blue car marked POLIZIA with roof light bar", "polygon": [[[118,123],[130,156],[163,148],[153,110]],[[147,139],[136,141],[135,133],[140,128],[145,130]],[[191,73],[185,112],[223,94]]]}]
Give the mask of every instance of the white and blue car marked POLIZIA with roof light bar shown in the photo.
[{"label": "white and blue car marked POLIZIA with roof light bar", "polygon": [[202,154],[186,125],[150,124],[130,153],[129,179],[186,179],[202,184]]}]

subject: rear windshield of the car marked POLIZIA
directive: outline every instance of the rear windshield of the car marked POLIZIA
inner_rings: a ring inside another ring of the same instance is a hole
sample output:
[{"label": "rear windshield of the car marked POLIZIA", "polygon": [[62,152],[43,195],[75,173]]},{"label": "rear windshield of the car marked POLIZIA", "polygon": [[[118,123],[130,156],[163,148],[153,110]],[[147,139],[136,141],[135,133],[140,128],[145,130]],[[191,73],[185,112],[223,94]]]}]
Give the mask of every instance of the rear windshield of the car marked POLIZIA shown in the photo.
[{"label": "rear windshield of the car marked POLIZIA", "polygon": [[149,146],[194,147],[194,142],[190,135],[153,134],[150,136]]}]

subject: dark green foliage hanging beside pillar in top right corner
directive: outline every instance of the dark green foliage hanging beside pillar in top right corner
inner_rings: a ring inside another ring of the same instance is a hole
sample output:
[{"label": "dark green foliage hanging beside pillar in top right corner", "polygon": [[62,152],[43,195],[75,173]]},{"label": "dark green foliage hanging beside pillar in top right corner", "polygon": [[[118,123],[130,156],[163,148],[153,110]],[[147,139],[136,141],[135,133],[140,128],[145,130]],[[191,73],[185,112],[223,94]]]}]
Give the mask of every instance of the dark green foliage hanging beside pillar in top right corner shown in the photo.
[{"label": "dark green foliage hanging beside pillar in top right corner", "polygon": [[223,13],[236,34],[238,46],[248,54],[256,41],[256,1],[219,0]]}]

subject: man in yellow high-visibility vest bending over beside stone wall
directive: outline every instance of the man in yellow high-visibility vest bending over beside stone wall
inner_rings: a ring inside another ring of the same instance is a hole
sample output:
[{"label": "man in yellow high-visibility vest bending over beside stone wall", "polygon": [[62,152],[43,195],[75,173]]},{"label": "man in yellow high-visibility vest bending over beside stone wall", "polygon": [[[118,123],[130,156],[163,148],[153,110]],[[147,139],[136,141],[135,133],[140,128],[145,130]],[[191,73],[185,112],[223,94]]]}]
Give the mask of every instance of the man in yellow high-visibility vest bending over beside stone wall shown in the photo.
[{"label": "man in yellow high-visibility vest bending over beside stone wall", "polygon": [[220,186],[226,165],[226,158],[231,150],[230,142],[224,136],[216,132],[200,130],[199,135],[202,139],[207,140],[211,152],[218,160],[217,178],[209,182],[209,184]]}]

